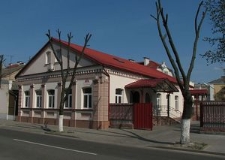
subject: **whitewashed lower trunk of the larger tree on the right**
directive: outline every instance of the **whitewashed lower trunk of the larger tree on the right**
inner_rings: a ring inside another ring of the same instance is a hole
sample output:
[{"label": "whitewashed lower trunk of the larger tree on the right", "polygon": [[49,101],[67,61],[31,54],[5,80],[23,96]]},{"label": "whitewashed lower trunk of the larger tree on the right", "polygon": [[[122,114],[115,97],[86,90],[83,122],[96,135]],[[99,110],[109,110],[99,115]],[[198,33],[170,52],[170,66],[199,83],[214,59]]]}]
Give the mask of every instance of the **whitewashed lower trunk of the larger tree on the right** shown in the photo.
[{"label": "whitewashed lower trunk of the larger tree on the right", "polygon": [[182,119],[181,121],[181,144],[190,143],[190,127],[191,127],[191,119]]}]

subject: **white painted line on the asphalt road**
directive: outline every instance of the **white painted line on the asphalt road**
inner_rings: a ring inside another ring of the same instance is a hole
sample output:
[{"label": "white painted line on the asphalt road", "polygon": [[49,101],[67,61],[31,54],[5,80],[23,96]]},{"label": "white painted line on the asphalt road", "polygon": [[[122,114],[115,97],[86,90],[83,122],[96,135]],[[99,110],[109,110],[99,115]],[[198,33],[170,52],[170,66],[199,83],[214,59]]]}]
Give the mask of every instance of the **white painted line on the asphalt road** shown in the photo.
[{"label": "white painted line on the asphalt road", "polygon": [[52,146],[52,145],[47,145],[47,144],[42,144],[42,143],[36,143],[36,142],[31,142],[31,141],[26,141],[26,140],[21,140],[21,139],[13,139],[13,140],[18,141],[18,142],[23,142],[23,143],[35,144],[35,145],[44,146],[44,147],[57,148],[57,149],[61,149],[61,150],[73,151],[73,152],[97,156],[96,153],[92,153],[92,152],[85,152],[85,151],[74,150],[74,149],[69,149],[69,148],[57,147],[57,146]]}]

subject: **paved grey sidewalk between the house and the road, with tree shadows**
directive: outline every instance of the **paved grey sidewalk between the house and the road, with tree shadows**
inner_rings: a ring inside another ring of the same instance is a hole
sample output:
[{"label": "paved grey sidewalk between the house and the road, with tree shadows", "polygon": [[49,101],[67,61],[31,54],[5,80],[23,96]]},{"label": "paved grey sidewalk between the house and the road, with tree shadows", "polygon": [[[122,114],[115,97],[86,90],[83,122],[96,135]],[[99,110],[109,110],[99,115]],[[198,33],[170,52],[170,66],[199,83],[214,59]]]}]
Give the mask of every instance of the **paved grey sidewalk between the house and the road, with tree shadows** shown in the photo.
[{"label": "paved grey sidewalk between the house and the road, with tree shadows", "polygon": [[58,126],[49,125],[47,128],[42,124],[22,123],[11,120],[0,120],[0,128],[32,132],[38,134],[53,134],[67,136],[79,140],[133,147],[159,147],[166,149],[188,149],[225,156],[225,135],[199,134],[199,123],[193,122],[191,126],[191,141],[198,144],[207,144],[202,150],[195,148],[180,147],[176,143],[180,138],[180,125],[156,126],[153,131],[135,129],[95,130],[64,127],[64,132],[57,132]]}]

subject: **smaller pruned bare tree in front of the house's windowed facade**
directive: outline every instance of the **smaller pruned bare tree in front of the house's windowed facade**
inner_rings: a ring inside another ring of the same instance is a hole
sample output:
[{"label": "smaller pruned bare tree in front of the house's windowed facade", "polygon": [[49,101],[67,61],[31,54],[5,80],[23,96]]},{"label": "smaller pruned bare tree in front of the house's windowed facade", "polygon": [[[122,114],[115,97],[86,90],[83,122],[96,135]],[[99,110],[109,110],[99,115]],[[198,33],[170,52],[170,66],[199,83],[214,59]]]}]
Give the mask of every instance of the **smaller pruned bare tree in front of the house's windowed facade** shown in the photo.
[{"label": "smaller pruned bare tree in front of the house's windowed facade", "polygon": [[[76,71],[78,68],[78,64],[80,63],[84,51],[86,47],[88,46],[88,42],[91,38],[91,34],[87,34],[84,39],[84,45],[82,48],[81,53],[75,54],[75,62],[74,66],[71,68],[70,66],[70,54],[71,54],[71,39],[73,38],[72,34],[69,33],[67,34],[67,53],[66,53],[66,62],[63,61],[63,53],[62,53],[62,41],[61,41],[61,31],[57,30],[58,34],[58,39],[59,39],[59,49],[56,51],[56,49],[53,46],[53,40],[51,37],[50,30],[48,30],[48,33],[46,34],[49,42],[50,42],[50,47],[53,51],[53,54],[57,60],[57,62],[60,65],[60,73],[61,73],[61,96],[60,96],[60,104],[59,104],[59,132],[63,131],[63,112],[64,112],[64,104],[68,99],[68,94],[72,88],[72,85],[74,83],[75,77],[76,77]],[[58,53],[57,53],[58,52]],[[66,63],[66,68],[63,68],[64,63]],[[69,86],[66,87],[66,82],[69,81]]]}]

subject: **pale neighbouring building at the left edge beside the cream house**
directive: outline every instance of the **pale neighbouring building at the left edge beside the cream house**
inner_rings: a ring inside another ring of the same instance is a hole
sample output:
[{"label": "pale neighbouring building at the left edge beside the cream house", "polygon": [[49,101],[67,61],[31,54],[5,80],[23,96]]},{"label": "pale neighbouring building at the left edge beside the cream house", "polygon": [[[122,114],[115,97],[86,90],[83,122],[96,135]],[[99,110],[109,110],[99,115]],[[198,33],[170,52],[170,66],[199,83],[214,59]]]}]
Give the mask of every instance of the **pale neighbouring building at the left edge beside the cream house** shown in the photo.
[{"label": "pale neighbouring building at the left edge beside the cream house", "polygon": [[18,87],[15,75],[24,67],[23,63],[10,64],[2,69],[0,87],[0,119],[15,119],[17,115]]}]

